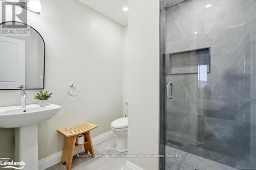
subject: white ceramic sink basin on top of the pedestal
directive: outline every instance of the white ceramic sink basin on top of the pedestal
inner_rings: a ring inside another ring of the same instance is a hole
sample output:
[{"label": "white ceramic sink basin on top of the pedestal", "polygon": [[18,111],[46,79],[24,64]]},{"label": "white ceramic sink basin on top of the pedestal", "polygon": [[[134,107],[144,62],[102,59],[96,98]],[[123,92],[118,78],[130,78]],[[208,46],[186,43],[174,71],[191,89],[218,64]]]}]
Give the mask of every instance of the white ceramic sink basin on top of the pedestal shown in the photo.
[{"label": "white ceramic sink basin on top of the pedestal", "polygon": [[44,122],[53,117],[61,107],[49,104],[40,107],[38,104],[0,107],[0,128],[19,128]]}]

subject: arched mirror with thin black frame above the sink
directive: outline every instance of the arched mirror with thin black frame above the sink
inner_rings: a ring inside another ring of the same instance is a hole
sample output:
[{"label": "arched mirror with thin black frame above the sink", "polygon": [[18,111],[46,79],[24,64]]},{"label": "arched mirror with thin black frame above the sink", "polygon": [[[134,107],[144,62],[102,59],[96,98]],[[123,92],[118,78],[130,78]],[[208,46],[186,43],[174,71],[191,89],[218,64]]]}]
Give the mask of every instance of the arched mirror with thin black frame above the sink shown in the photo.
[{"label": "arched mirror with thin black frame above the sink", "polygon": [[45,41],[22,22],[0,24],[0,90],[44,89]]}]

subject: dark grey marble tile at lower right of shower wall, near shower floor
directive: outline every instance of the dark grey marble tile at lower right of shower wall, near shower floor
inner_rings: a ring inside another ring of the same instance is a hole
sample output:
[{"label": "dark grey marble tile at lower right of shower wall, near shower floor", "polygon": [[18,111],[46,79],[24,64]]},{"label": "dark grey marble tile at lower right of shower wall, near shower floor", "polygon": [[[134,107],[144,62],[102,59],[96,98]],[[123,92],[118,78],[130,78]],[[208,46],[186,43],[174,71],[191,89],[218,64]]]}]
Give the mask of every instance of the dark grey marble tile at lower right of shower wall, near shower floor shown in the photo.
[{"label": "dark grey marble tile at lower right of shower wall, near shower floor", "polygon": [[205,117],[204,148],[241,160],[250,156],[248,123]]}]

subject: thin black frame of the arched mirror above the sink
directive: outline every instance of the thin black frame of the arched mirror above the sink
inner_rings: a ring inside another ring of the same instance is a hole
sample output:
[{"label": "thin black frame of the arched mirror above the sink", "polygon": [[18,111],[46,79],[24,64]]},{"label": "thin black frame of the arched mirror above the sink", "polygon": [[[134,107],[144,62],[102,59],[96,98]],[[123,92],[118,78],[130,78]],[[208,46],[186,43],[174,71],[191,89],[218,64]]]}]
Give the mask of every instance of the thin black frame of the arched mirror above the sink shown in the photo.
[{"label": "thin black frame of the arched mirror above the sink", "polygon": [[[29,25],[27,25],[26,23],[23,23],[23,22],[19,22],[19,21],[5,21],[5,22],[0,23],[0,26],[5,24],[5,23],[8,23],[8,22],[17,22],[17,23],[22,23],[22,24],[28,26],[29,28],[31,28],[35,32],[37,32],[37,34],[41,37],[42,42],[44,42],[44,80],[43,80],[43,83],[42,83],[42,88],[26,88],[25,87],[25,89],[26,90],[43,90],[43,89],[45,89],[46,43],[45,43],[44,38],[42,38],[41,34],[36,29],[34,29],[33,27],[31,27],[31,26],[29,26]],[[17,89],[14,88],[14,89],[0,89],[0,90],[20,90],[20,89],[19,88],[17,88]]]}]

